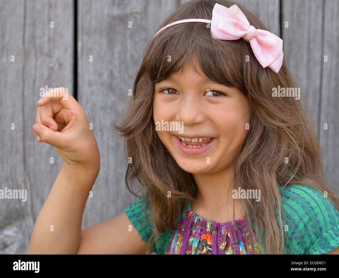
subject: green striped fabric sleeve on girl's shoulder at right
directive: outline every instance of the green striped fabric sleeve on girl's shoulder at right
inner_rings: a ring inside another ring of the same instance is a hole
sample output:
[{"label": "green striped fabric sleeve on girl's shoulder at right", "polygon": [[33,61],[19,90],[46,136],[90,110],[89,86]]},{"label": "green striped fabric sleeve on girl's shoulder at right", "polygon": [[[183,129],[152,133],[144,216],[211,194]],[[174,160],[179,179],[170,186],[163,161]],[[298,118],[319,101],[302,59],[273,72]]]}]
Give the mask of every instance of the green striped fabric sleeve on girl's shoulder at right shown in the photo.
[{"label": "green striped fabric sleeve on girl's shoulder at right", "polygon": [[288,254],[324,254],[339,246],[339,212],[325,193],[311,185],[281,190]]}]

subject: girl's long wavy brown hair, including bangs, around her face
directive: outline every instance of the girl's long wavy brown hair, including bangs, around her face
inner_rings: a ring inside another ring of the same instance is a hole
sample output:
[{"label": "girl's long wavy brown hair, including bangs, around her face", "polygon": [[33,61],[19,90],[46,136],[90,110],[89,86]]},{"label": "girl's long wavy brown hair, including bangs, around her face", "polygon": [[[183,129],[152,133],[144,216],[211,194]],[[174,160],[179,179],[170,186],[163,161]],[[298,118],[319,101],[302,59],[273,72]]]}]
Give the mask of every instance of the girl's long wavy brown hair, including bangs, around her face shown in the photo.
[{"label": "girl's long wavy brown hair, including bangs, around her face", "polygon": [[[226,7],[230,1],[193,0],[180,5],[159,29],[171,22],[188,19],[211,19],[215,3]],[[238,4],[237,4],[238,5]],[[238,5],[251,25],[267,30],[262,22]],[[158,30],[159,30],[158,29]],[[168,55],[171,61],[168,61]],[[248,55],[249,61],[245,62]],[[272,97],[272,88],[296,88],[285,60],[279,73],[262,68],[243,39],[217,40],[205,23],[182,23],[162,31],[147,45],[133,86],[133,98],[126,118],[114,127],[125,137],[128,164],[125,181],[135,196],[133,181],[146,190],[151,219],[155,225],[146,254],[159,233],[175,230],[176,220],[192,198],[193,175],[178,164],[157,136],[153,122],[154,84],[183,68],[187,61],[194,66],[197,58],[203,73],[213,81],[238,87],[250,104],[250,129],[242,143],[234,166],[234,188],[260,189],[264,201],[245,199],[247,221],[260,230],[266,254],[284,254],[283,209],[278,185],[313,185],[328,192],[339,208],[338,195],[326,184],[321,165],[318,139],[300,101],[294,97]],[[288,163],[285,163],[288,157]],[[167,198],[167,192],[171,198]],[[276,201],[275,201],[276,200]],[[278,222],[272,216],[277,211]],[[257,231],[257,230],[256,230]],[[250,242],[254,242],[250,233]],[[264,236],[264,240],[263,240]],[[252,248],[254,254],[257,252]]]}]

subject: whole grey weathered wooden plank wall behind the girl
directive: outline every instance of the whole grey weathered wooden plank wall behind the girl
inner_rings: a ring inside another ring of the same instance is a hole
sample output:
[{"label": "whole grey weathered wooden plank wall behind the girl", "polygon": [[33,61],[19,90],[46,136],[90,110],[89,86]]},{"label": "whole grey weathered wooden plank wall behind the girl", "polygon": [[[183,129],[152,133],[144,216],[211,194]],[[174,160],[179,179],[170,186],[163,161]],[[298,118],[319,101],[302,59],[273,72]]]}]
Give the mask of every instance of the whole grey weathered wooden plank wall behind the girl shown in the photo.
[{"label": "whole grey weathered wooden plank wall behind the girl", "polygon": [[[62,165],[55,148],[33,136],[41,87],[67,87],[94,126],[101,169],[83,228],[117,216],[135,199],[124,184],[127,160],[111,121],[124,115],[147,42],[182,2],[0,0],[0,189],[28,193],[26,202],[0,199],[0,254],[27,253],[33,225]],[[238,3],[283,39],[284,57],[323,148],[327,180],[338,188],[339,1]]]}]

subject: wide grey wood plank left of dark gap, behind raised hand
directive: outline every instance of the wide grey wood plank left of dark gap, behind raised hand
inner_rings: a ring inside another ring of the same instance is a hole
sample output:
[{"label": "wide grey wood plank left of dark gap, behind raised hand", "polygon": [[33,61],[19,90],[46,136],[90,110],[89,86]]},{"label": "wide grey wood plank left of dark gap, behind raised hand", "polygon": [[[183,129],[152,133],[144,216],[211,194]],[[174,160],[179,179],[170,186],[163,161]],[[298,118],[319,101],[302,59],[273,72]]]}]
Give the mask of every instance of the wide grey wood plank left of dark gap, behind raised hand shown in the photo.
[{"label": "wide grey wood plank left of dark gap, behind raised hand", "polygon": [[36,142],[32,126],[40,88],[73,89],[73,14],[67,0],[0,1],[1,188],[27,189],[28,196],[26,202],[0,199],[5,211],[0,253],[27,253],[36,217],[62,165],[53,146]]}]

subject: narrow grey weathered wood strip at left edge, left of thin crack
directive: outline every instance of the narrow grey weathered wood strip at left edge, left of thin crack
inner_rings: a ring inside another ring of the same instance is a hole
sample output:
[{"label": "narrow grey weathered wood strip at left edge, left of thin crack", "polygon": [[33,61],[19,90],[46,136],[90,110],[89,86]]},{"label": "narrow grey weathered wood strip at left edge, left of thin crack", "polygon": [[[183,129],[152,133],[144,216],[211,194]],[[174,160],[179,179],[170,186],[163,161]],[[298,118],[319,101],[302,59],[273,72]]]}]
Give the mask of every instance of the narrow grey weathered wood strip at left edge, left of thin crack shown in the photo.
[{"label": "narrow grey weathered wood strip at left edge, left of thin crack", "polygon": [[[0,1],[0,189],[27,189],[25,184],[23,119],[23,1]],[[12,16],[8,16],[12,15]],[[12,62],[11,59],[14,59]],[[14,124],[14,129],[11,129]],[[28,201],[0,199],[0,254],[18,254],[27,246],[32,229]]]}]

